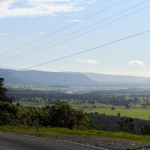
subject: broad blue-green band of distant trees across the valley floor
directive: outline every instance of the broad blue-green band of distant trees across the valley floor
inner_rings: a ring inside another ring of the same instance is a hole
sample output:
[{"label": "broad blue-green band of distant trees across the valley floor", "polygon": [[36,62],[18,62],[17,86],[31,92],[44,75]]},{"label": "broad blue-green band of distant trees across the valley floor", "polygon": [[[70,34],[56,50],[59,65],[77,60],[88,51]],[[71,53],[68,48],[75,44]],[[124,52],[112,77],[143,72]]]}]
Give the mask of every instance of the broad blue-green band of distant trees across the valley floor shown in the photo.
[{"label": "broad blue-green band of distant trees across the valley floor", "polygon": [[54,104],[57,99],[74,100],[75,104],[111,104],[113,106],[124,106],[126,108],[130,105],[141,104],[143,107],[150,106],[150,94],[120,94],[105,93],[102,91],[93,91],[89,93],[75,93],[67,94],[60,91],[35,91],[31,89],[9,89],[9,96],[13,96],[12,100],[15,102],[32,102],[34,104]]}]

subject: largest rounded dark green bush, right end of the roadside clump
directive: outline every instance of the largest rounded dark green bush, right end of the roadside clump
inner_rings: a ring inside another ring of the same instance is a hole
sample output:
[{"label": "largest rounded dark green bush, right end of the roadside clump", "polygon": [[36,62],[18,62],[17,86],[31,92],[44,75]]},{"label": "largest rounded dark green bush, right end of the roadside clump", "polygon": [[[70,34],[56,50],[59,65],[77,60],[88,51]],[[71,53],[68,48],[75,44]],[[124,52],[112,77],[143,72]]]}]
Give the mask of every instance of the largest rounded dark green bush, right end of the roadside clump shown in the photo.
[{"label": "largest rounded dark green bush, right end of the roadside clump", "polygon": [[72,108],[64,101],[43,107],[40,113],[42,125],[64,128],[90,128],[91,121],[83,111]]}]

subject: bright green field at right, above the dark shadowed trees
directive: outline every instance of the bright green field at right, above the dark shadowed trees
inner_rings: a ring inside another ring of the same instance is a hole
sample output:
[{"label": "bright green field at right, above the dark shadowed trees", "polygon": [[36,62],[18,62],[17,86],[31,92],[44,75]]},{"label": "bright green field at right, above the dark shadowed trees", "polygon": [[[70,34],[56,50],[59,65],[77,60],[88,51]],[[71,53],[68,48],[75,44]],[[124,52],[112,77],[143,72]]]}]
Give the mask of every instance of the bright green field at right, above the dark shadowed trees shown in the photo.
[{"label": "bright green field at right, above the dark shadowed trees", "polygon": [[[71,103],[70,103],[71,104]],[[71,104],[75,109],[84,110],[87,113],[95,113],[105,115],[117,116],[120,113],[120,116],[150,120],[150,107],[142,108],[141,105],[131,106],[130,108],[125,108],[124,106],[114,106],[112,110],[112,105],[107,104]]]}]

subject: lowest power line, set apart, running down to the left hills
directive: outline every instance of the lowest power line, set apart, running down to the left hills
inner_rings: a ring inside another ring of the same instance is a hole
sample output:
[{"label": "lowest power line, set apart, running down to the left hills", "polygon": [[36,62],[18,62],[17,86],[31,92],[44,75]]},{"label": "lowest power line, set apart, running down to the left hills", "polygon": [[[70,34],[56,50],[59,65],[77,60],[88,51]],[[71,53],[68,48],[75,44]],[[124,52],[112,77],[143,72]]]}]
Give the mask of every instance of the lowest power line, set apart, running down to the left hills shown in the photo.
[{"label": "lowest power line, set apart, running down to the left hills", "polygon": [[26,71],[26,70],[29,70],[29,69],[32,69],[32,68],[35,68],[35,67],[43,66],[43,65],[50,64],[50,63],[53,63],[53,62],[57,62],[57,61],[60,61],[60,60],[63,60],[63,59],[74,57],[76,55],[80,55],[80,54],[87,53],[87,52],[90,52],[90,51],[93,51],[93,50],[96,50],[96,49],[99,49],[99,48],[103,48],[103,47],[106,47],[106,46],[109,46],[109,45],[112,45],[112,44],[115,44],[115,43],[119,43],[121,41],[125,41],[125,40],[128,40],[128,39],[131,39],[131,38],[134,38],[134,37],[146,34],[148,32],[150,32],[150,29],[149,30],[145,30],[143,32],[139,32],[139,33],[130,35],[130,36],[127,36],[127,37],[124,37],[124,38],[121,38],[121,39],[118,39],[118,40],[115,40],[115,41],[112,41],[112,42],[109,42],[109,43],[106,43],[106,44],[103,44],[103,45],[96,46],[94,48],[90,48],[90,49],[83,50],[83,51],[80,51],[80,52],[77,52],[77,53],[66,55],[64,57],[60,57],[60,58],[53,59],[53,60],[50,60],[50,61],[47,61],[47,62],[44,62],[44,63],[33,65],[33,66],[30,66],[30,67],[27,67],[27,68],[24,68],[24,69],[21,69],[21,70],[18,70],[18,71],[12,71],[12,72],[9,72],[9,73],[5,73],[5,74],[2,74],[0,76],[7,76],[7,75],[10,75],[10,74],[13,74],[13,73],[16,73],[16,72]]}]

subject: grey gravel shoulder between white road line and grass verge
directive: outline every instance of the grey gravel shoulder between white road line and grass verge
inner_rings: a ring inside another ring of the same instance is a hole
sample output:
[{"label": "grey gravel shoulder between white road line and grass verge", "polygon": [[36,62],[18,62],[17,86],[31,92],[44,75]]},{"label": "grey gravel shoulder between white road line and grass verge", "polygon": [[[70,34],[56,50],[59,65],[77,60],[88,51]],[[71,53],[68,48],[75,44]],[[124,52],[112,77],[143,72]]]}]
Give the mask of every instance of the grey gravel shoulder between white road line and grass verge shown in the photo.
[{"label": "grey gravel shoulder between white road line and grass verge", "polygon": [[139,143],[129,140],[116,138],[96,137],[96,136],[70,136],[70,135],[51,135],[46,136],[52,139],[65,140],[81,143],[85,145],[102,147],[109,150],[150,150],[150,144]]}]

